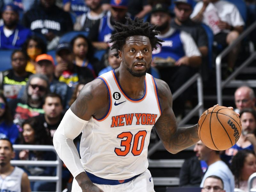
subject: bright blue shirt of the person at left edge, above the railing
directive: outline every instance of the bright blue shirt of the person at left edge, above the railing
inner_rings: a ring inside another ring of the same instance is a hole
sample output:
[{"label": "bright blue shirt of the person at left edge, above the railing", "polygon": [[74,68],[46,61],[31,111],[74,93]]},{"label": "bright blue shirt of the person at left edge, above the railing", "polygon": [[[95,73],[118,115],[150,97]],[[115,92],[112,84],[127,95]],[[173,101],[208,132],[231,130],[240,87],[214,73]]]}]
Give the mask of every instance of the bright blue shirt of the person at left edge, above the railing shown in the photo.
[{"label": "bright blue shirt of the person at left edge, above the railing", "polygon": [[16,139],[19,137],[19,130],[17,125],[11,123],[6,124],[5,122],[0,124],[0,138],[9,139],[12,144],[15,144]]}]

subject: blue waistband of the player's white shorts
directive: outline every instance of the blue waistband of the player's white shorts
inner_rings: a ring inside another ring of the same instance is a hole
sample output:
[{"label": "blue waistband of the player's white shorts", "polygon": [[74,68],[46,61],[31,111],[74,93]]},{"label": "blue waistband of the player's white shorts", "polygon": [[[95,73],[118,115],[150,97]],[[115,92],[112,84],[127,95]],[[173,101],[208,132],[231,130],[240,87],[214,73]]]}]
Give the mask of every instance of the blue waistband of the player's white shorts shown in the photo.
[{"label": "blue waistband of the player's white shorts", "polygon": [[87,176],[89,177],[89,179],[96,184],[100,184],[100,185],[119,185],[122,183],[128,183],[129,181],[135,179],[136,177],[138,177],[139,175],[135,175],[134,177],[131,177],[129,179],[125,179],[125,180],[112,180],[112,179],[103,179],[101,177],[98,177],[96,175],[93,175],[92,173],[89,173],[87,171],[85,171]]}]

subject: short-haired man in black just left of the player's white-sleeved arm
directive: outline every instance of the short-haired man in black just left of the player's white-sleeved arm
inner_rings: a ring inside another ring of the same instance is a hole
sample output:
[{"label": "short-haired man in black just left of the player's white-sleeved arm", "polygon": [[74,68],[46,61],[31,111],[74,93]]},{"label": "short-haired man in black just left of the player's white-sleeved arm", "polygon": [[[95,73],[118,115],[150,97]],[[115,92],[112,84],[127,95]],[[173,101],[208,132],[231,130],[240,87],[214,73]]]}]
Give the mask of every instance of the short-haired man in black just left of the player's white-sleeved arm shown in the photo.
[{"label": "short-haired man in black just left of the player's white-sleeved arm", "polygon": [[50,133],[52,138],[63,118],[63,107],[61,103],[61,97],[57,93],[47,94],[43,105],[44,114],[36,116],[36,119],[42,123],[45,130]]}]

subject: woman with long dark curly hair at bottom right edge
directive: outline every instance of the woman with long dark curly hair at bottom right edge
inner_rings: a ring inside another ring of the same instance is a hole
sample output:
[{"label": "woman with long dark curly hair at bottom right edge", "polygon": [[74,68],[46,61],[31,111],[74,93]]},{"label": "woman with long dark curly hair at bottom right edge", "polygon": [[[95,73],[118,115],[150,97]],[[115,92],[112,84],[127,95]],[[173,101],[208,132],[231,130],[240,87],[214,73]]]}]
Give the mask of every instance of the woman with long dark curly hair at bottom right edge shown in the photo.
[{"label": "woman with long dark curly hair at bottom right edge", "polygon": [[[235,176],[236,188],[248,192],[248,179],[256,172],[256,156],[252,150],[243,149],[237,152],[231,163],[231,171]],[[256,188],[256,181],[253,180],[252,188]]]}]

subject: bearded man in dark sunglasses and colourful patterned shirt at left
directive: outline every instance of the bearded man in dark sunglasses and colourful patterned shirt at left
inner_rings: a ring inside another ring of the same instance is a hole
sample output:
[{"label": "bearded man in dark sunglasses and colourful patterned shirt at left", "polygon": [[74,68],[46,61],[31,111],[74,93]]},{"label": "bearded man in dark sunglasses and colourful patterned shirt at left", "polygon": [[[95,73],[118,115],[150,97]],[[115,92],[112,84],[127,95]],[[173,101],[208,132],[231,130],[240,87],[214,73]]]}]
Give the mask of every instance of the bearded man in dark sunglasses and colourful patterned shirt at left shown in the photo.
[{"label": "bearded man in dark sunglasses and colourful patterned shirt at left", "polygon": [[48,92],[49,82],[45,75],[29,76],[22,98],[10,101],[12,116],[14,116],[13,122],[21,126],[22,122],[29,117],[44,113],[43,99]]}]

